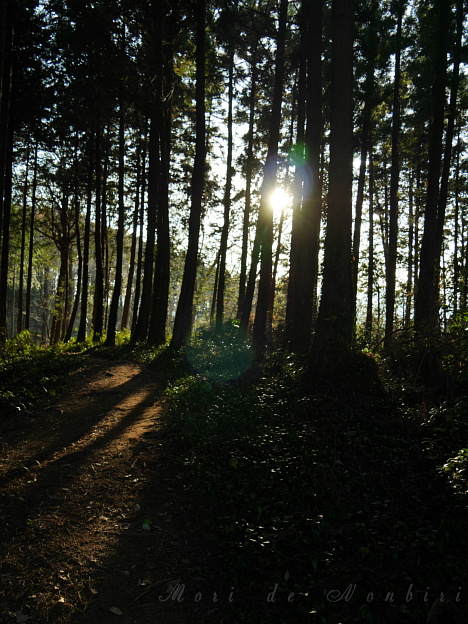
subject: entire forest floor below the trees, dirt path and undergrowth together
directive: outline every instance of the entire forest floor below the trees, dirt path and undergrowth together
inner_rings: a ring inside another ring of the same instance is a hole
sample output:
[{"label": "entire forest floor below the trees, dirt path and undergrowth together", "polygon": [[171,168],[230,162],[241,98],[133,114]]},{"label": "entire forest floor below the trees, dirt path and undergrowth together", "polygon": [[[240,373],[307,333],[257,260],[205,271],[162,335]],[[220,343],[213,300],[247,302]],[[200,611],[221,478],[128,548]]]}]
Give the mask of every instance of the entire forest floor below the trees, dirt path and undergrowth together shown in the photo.
[{"label": "entire forest floor below the trees, dirt path and undergrowth together", "polygon": [[208,347],[4,367],[0,624],[468,624],[466,384]]}]

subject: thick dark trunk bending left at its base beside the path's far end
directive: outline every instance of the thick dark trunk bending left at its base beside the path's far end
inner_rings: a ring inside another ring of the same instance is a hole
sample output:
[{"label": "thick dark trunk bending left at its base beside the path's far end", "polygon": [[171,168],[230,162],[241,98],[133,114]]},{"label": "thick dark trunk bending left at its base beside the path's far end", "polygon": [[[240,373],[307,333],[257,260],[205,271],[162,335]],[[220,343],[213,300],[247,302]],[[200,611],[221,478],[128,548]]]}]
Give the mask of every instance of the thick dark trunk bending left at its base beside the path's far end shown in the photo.
[{"label": "thick dark trunk bending left at its base beside the path's far end", "polygon": [[205,174],[205,0],[197,0],[196,13],[196,137],[195,162],[191,183],[189,241],[184,276],[174,321],[171,347],[180,349],[190,337],[192,306],[198,261],[201,208]]}]

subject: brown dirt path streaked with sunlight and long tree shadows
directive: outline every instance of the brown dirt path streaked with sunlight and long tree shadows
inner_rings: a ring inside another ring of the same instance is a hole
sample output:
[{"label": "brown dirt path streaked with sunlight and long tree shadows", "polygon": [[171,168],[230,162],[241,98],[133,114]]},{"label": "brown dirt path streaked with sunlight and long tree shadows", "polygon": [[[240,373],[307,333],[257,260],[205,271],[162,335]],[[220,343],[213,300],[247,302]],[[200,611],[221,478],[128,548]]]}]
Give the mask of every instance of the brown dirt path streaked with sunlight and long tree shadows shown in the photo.
[{"label": "brown dirt path streaked with sunlight and long tree shadows", "polygon": [[194,600],[213,570],[163,389],[154,371],[90,359],[0,429],[1,622],[221,621]]}]

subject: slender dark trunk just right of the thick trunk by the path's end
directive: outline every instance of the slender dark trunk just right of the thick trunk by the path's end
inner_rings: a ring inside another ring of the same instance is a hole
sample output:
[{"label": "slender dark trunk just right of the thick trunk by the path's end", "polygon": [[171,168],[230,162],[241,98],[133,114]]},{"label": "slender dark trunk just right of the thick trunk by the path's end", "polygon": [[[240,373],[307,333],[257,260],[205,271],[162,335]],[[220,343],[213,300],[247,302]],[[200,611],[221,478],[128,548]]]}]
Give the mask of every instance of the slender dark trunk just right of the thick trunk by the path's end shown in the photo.
[{"label": "slender dark trunk just right of the thick trunk by the path's end", "polygon": [[226,187],[224,191],[224,217],[223,228],[221,231],[221,244],[219,248],[219,279],[218,279],[218,298],[216,305],[216,329],[221,330],[224,320],[224,295],[226,286],[226,256],[227,243],[229,234],[229,219],[231,213],[231,190],[232,190],[232,106],[234,99],[234,47],[229,51],[229,86],[228,86],[228,145],[226,159]]}]

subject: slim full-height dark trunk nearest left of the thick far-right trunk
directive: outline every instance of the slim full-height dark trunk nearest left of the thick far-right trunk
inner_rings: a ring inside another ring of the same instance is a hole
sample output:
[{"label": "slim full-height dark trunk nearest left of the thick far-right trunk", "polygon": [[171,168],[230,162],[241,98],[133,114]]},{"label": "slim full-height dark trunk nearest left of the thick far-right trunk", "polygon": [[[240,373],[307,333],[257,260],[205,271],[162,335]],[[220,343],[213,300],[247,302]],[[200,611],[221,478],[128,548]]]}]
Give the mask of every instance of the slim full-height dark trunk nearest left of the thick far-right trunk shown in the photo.
[{"label": "slim full-height dark trunk nearest left of the thick far-right trunk", "polygon": [[392,339],[395,320],[395,281],[398,248],[398,182],[400,177],[400,82],[401,82],[401,28],[403,22],[404,0],[400,0],[397,8],[397,36],[395,52],[395,78],[393,83],[393,115],[392,115],[392,167],[390,173],[390,223],[388,232],[388,254],[386,265],[386,297],[385,297],[385,344]]}]

